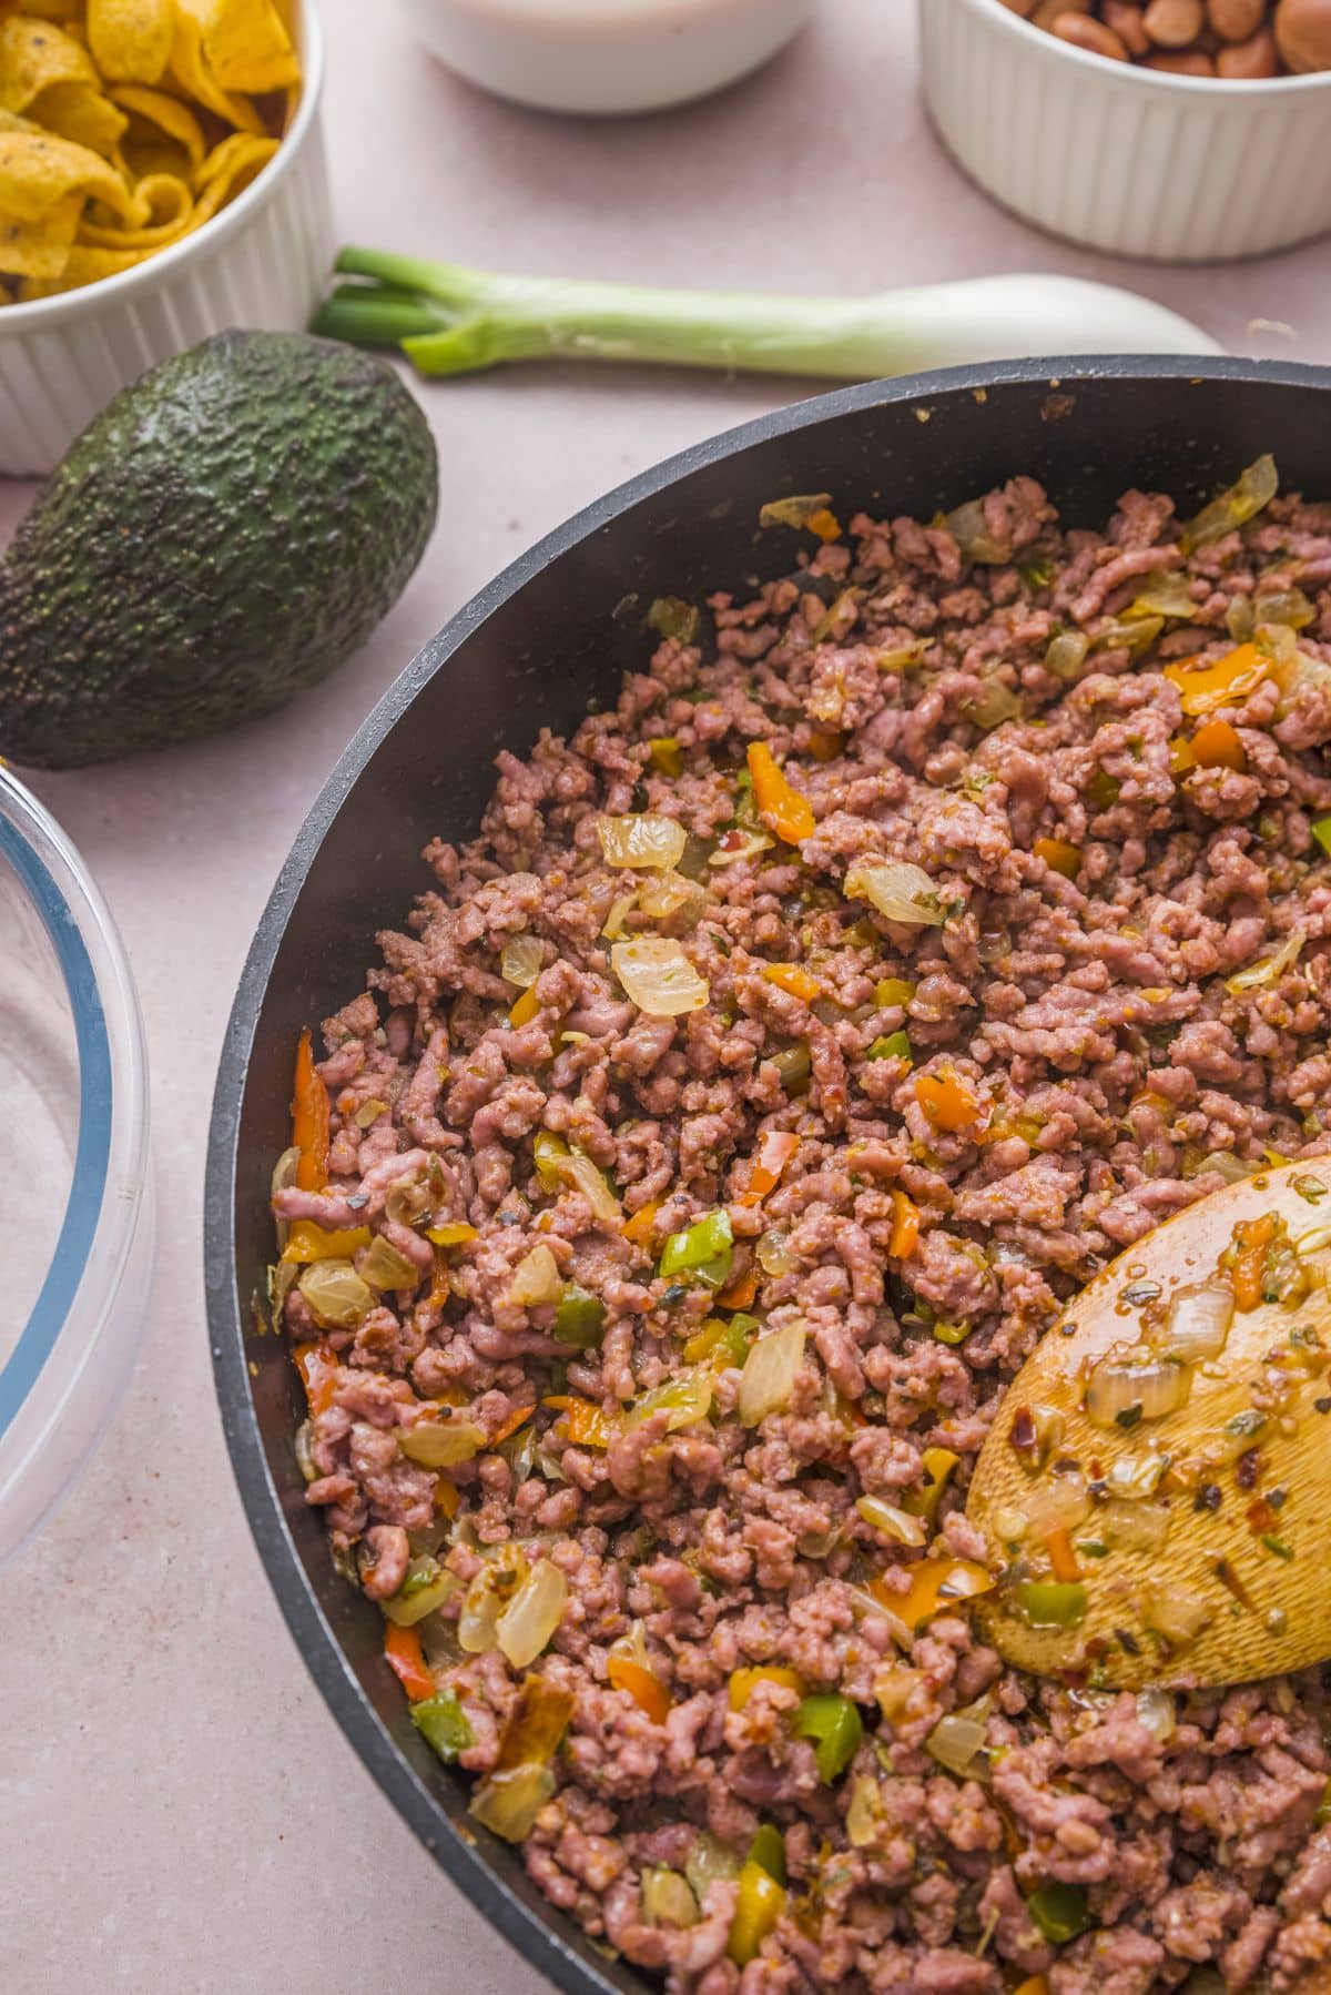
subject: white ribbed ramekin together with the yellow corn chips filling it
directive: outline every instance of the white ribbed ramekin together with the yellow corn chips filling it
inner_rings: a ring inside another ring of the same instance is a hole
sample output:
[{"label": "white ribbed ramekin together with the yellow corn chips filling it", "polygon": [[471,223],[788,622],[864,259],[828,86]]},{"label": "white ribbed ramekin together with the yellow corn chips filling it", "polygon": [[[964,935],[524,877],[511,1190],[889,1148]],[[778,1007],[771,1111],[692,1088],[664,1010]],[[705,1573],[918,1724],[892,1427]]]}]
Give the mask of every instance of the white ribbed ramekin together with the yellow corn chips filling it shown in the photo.
[{"label": "white ribbed ramekin together with the yellow corn chips filling it", "polygon": [[313,0],[0,0],[0,475],[212,333],[309,323],[321,70]]}]

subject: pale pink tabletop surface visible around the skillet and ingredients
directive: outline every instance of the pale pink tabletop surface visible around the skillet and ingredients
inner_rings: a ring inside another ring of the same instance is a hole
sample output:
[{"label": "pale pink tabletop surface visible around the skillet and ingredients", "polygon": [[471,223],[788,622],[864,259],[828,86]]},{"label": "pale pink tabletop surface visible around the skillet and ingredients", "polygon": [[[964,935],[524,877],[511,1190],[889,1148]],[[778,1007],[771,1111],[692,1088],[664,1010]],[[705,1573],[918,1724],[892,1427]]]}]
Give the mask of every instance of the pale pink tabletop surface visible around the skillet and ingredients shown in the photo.
[{"label": "pale pink tabletop surface visible around the skillet and ingredients", "polygon": [[[812,32],[764,76],[625,126],[477,96],[413,46],[407,0],[325,0],[323,14],[343,239],[511,269],[818,291],[1064,269],[1133,283],[1233,351],[1331,359],[1325,243],[1163,269],[1082,255],[994,209],[924,126],[908,0],[822,0]],[[1289,331],[1253,331],[1253,319]],[[249,1544],[204,1327],[208,1103],[263,898],[393,674],[565,515],[794,393],[575,369],[423,387],[443,527],[373,644],[231,738],[36,780],[92,862],[138,972],[160,1267],[106,1446],[0,1580],[6,1995],[543,1985],[361,1772]],[[0,535],[26,497],[0,485]]]}]

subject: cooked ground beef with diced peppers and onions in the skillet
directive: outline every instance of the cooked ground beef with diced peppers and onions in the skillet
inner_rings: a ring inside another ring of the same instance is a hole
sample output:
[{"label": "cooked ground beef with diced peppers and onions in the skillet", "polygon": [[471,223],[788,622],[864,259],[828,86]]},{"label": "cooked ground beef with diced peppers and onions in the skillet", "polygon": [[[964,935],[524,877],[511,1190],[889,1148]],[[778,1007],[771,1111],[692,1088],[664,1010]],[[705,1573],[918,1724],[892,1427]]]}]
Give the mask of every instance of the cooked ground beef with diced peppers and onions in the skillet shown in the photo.
[{"label": "cooked ground beef with diced peppers and onions in the skillet", "polygon": [[[970,1468],[1062,1303],[1269,1151],[1331,1149],[1331,507],[1195,545],[1163,495],[1064,531],[1018,477],[950,525],[812,529],[702,624],[661,606],[573,740],[499,758],[327,1019],[327,1151],[315,1115],[275,1211],[375,1243],[291,1235],[307,1496],[391,1620],[431,1604],[393,1652],[445,1756],[499,1772],[485,1817],[672,1991],[1291,1989],[1331,1961],[1319,1674],[1141,1704],[882,1604],[984,1554]],[[1249,670],[1169,676],[1253,626]],[[603,852],[645,814],[688,832],[665,880]],[[856,862],[922,868],[918,918],[848,894]],[[643,936],[696,1007],[633,1001],[611,952]],[[527,1656],[495,1614],[533,1574]],[[567,1734],[525,1764],[541,1698]],[[958,1710],[966,1776],[926,1750]]]}]

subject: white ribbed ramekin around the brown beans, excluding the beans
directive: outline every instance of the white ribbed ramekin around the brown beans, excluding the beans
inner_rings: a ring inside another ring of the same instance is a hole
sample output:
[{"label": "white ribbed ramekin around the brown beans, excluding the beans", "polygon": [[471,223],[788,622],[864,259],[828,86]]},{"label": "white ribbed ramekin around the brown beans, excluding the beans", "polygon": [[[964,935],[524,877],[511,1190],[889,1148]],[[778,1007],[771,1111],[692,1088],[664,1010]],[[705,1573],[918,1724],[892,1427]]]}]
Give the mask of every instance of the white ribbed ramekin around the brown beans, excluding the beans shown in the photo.
[{"label": "white ribbed ramekin around the brown beans, excluding the beans", "polygon": [[1331,229],[1331,74],[1165,76],[1088,56],[1002,0],[920,0],[920,38],[952,158],[1054,235],[1205,263]]}]

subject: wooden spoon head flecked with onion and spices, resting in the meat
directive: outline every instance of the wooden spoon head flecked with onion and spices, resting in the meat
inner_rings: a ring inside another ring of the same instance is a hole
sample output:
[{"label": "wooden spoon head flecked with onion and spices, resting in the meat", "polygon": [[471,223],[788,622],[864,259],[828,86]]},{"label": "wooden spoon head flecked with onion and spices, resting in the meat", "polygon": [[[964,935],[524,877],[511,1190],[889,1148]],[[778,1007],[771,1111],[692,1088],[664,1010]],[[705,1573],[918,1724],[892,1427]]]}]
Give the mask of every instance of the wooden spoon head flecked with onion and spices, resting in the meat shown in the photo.
[{"label": "wooden spoon head flecked with onion and spices, resting in the meat", "polygon": [[1227,1185],[1098,1275],[970,1484],[1038,1676],[1243,1684],[1331,1658],[1331,1157]]}]

